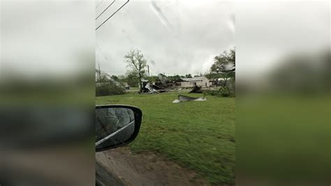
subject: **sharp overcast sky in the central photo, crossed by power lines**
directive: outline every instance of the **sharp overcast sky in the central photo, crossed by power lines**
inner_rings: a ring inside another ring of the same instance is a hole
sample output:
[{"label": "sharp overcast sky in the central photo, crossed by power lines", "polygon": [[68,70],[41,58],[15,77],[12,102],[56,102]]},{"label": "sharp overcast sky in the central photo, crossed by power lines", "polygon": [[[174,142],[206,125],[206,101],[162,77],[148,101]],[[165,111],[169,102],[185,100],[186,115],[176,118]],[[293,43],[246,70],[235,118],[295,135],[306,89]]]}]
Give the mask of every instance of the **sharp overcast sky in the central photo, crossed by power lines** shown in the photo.
[{"label": "sharp overcast sky in the central photo, crossed by power lines", "polygon": [[[103,0],[96,15],[111,2]],[[123,3],[115,1],[96,27]],[[196,75],[233,47],[235,13],[228,1],[129,1],[96,31],[96,62],[111,75],[126,73],[124,55],[134,49],[145,55],[152,75]]]}]

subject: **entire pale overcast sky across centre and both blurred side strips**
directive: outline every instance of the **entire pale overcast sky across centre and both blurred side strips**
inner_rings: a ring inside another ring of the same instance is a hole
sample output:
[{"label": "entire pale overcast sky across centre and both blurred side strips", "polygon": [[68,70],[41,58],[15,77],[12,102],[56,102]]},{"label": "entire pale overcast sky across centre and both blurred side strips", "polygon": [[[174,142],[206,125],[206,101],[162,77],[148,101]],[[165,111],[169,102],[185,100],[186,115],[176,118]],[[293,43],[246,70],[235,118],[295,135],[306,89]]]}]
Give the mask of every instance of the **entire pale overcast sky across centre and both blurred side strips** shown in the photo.
[{"label": "entire pale overcast sky across centre and both blurred side strips", "polygon": [[119,75],[133,49],[142,50],[153,75],[196,75],[235,46],[236,75],[247,78],[289,54],[330,45],[329,1],[131,0],[95,31],[125,1],[95,22],[112,0],[95,8],[100,2],[1,1],[0,75],[64,77],[87,69],[94,76],[94,50],[101,69]]}]

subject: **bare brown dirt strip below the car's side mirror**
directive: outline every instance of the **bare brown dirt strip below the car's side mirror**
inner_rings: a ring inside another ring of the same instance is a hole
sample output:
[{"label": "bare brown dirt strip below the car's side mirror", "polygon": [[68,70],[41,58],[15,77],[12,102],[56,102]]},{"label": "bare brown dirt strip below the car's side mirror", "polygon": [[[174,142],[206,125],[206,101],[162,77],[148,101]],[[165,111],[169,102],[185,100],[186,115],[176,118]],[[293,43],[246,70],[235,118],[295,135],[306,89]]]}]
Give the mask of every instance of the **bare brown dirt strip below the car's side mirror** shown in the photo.
[{"label": "bare brown dirt strip below the car's side mirror", "polygon": [[96,162],[124,185],[207,185],[194,171],[152,152],[133,154],[128,147],[98,152]]}]

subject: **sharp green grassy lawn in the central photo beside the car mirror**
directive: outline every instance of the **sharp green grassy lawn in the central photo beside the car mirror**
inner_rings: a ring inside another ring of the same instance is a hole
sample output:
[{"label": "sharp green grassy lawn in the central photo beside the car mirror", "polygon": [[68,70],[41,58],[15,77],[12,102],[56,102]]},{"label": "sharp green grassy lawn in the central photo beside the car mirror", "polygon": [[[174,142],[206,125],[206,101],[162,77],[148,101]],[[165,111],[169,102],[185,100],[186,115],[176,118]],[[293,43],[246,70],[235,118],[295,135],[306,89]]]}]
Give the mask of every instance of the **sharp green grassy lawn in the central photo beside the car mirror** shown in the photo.
[{"label": "sharp green grassy lawn in the central photo beside the car mirror", "polygon": [[178,94],[124,94],[96,98],[96,104],[127,104],[142,109],[133,152],[154,151],[195,170],[210,184],[235,183],[235,98],[172,103]]}]

